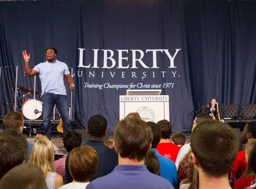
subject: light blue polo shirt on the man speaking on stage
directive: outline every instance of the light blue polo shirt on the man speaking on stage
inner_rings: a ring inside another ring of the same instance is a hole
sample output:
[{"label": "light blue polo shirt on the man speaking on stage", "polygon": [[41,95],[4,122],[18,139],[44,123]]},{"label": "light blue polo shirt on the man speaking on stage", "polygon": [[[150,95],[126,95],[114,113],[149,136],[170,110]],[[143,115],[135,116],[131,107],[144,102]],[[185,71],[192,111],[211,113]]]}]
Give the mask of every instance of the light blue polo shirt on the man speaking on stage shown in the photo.
[{"label": "light blue polo shirt on the man speaking on stage", "polygon": [[33,68],[41,79],[42,95],[50,92],[56,95],[67,95],[63,77],[70,74],[68,66],[64,62],[56,60],[54,63],[43,62]]}]

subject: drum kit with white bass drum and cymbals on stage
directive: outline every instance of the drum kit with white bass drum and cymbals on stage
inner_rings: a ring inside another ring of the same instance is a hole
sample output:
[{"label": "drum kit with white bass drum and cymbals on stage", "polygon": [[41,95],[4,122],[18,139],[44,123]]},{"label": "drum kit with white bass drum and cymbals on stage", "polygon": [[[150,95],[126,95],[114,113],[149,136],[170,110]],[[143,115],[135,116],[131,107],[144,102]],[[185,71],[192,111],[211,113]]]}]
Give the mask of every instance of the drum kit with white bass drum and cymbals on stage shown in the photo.
[{"label": "drum kit with white bass drum and cymbals on stage", "polygon": [[[25,88],[18,85],[17,88],[25,93],[19,99],[23,99],[22,105],[22,114],[25,118],[29,120],[41,119],[43,115],[43,103],[36,99],[29,99],[29,95],[34,95],[34,90],[31,88]],[[38,95],[38,92],[35,91],[35,95]]]}]

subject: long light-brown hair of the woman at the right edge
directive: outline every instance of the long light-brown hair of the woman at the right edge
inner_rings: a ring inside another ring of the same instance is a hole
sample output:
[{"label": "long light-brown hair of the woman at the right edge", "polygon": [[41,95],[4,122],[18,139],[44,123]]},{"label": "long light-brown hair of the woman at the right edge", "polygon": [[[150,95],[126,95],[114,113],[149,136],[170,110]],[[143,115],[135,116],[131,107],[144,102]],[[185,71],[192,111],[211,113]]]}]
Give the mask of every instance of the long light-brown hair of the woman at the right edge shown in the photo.
[{"label": "long light-brown hair of the woman at the right edge", "polygon": [[252,157],[252,151],[255,146],[256,146],[256,139],[250,139],[245,146],[245,151],[248,154],[247,156],[248,160],[247,160],[247,168],[245,170],[245,173],[242,175],[242,177],[248,177],[253,175],[254,178],[256,178],[256,173],[253,172],[253,168],[251,166],[252,159],[256,158],[256,157]]}]

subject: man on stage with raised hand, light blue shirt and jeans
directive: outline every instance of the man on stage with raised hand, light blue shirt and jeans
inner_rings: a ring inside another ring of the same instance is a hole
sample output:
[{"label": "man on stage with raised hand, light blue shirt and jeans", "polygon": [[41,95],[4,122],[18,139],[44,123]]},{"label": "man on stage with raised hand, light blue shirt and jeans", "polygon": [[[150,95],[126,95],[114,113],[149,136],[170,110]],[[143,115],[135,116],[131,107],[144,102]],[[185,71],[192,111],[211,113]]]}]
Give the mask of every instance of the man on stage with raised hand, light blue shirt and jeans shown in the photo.
[{"label": "man on stage with raised hand, light blue shirt and jeans", "polygon": [[67,132],[71,128],[68,114],[68,100],[63,76],[66,77],[70,91],[74,91],[75,85],[73,78],[68,71],[68,66],[56,59],[58,52],[54,47],[48,47],[45,50],[46,62],[36,65],[32,70],[29,67],[30,54],[22,51],[25,61],[26,76],[35,76],[39,74],[41,79],[43,97],[43,135],[51,140],[51,117],[54,106],[56,105],[63,121],[63,131]]}]

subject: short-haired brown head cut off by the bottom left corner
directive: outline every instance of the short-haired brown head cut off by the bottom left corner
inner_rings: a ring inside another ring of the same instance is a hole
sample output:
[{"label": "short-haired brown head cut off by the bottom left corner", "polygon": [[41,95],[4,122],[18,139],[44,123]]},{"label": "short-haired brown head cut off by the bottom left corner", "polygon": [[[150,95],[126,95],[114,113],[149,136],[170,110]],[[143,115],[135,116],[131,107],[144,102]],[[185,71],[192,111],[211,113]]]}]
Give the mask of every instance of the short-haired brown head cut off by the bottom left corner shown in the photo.
[{"label": "short-haired brown head cut off by the bottom left corner", "polygon": [[25,163],[8,171],[0,181],[1,189],[45,189],[43,172],[36,164]]}]

